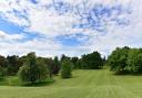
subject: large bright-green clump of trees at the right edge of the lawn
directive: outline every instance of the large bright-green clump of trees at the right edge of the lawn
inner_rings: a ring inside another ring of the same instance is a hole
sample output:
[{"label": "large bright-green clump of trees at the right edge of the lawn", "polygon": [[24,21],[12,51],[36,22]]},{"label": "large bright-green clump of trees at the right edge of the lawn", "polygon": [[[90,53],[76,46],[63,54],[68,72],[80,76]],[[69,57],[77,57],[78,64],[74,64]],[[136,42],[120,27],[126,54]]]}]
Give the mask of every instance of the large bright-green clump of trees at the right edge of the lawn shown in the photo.
[{"label": "large bright-green clump of trees at the right edge of the lawn", "polygon": [[106,62],[115,74],[142,74],[142,48],[116,47]]}]

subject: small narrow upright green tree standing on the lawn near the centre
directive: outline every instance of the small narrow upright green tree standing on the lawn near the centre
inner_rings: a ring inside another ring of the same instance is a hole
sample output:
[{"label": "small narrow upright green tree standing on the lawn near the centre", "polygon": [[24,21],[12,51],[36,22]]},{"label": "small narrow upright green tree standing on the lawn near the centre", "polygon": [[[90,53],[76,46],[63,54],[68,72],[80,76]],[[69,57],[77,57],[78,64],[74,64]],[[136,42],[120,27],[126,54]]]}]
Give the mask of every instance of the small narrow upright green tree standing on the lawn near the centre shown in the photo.
[{"label": "small narrow upright green tree standing on the lawn near the centre", "polygon": [[70,78],[72,76],[73,64],[69,59],[64,59],[61,63],[61,77]]}]

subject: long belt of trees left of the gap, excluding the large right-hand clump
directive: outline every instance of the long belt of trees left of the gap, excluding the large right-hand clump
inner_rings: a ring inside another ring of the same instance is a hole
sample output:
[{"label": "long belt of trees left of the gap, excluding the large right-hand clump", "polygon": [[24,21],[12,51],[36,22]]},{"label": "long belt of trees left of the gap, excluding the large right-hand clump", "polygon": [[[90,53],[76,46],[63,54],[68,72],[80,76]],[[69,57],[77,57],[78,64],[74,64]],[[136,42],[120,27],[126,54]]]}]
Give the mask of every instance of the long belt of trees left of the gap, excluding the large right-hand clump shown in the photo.
[{"label": "long belt of trees left of the gap, excluding the large right-hand clump", "polygon": [[0,77],[18,76],[27,84],[34,84],[61,75],[62,78],[72,77],[73,69],[100,69],[104,59],[99,52],[84,54],[79,57],[62,55],[53,58],[37,56],[34,52],[23,56],[0,56]]}]

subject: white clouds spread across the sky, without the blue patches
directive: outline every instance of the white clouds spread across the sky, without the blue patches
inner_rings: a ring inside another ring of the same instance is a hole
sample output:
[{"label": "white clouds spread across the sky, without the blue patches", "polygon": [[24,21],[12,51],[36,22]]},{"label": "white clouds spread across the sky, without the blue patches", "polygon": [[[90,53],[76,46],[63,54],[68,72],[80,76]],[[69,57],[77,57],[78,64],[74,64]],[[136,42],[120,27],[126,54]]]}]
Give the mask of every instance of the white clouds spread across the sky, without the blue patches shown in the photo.
[{"label": "white clouds spread across the sky, without the blue patches", "polygon": [[[75,6],[85,0],[62,1]],[[30,33],[37,32],[45,37],[26,41],[22,44],[19,42],[12,42],[12,44],[0,42],[0,48],[7,50],[2,50],[1,54],[23,54],[36,51],[39,55],[61,55],[62,53],[67,53],[68,55],[80,55],[95,50],[104,55],[108,54],[108,52],[110,53],[115,46],[142,46],[142,0],[87,0],[88,7],[90,8],[95,3],[103,3],[105,6],[122,4],[132,8],[132,15],[120,15],[120,18],[130,19],[131,24],[129,26],[115,26],[114,23],[111,24],[110,22],[110,25],[105,26],[108,28],[106,34],[92,29],[72,29],[72,24],[80,22],[80,20],[74,17],[74,13],[67,12],[63,15],[59,15],[53,8],[50,10],[45,9],[45,6],[52,2],[51,0],[39,0],[38,2],[38,4],[33,4],[29,0],[19,0],[19,2],[17,2],[17,0],[0,1],[0,15],[3,19],[20,26],[27,26],[26,31]],[[17,17],[13,9],[20,11],[21,14],[27,14],[27,18]],[[84,36],[75,36],[77,33],[81,33]],[[75,47],[64,46],[54,39],[59,35],[67,34],[71,36],[74,35],[74,37],[83,42],[83,44]],[[23,37],[24,35],[21,34],[11,35],[2,31],[0,32],[1,41],[13,41]]]}]

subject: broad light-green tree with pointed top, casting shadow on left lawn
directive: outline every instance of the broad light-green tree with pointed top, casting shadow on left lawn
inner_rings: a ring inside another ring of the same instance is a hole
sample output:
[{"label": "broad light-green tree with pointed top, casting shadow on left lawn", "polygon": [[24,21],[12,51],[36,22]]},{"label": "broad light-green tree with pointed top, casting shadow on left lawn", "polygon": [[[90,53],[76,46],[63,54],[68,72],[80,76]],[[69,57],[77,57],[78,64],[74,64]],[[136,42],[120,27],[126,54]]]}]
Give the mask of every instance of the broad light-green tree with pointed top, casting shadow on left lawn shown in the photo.
[{"label": "broad light-green tree with pointed top, casting shadow on left lawn", "polygon": [[29,53],[23,66],[19,69],[19,78],[22,81],[34,84],[48,77],[48,69],[42,58],[37,58],[36,53]]}]

